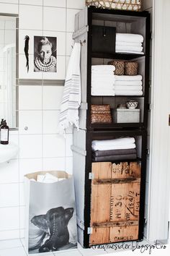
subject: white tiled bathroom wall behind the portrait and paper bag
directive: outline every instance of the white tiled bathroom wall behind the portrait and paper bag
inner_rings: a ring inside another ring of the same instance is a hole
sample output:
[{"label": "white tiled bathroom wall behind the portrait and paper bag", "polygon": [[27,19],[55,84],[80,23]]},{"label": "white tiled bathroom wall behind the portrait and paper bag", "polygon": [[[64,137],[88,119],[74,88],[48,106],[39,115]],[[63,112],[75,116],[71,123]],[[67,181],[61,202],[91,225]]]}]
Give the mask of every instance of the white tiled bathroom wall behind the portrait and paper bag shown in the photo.
[{"label": "white tiled bathroom wall behind the portrait and paper bag", "polygon": [[[64,80],[71,54],[74,15],[83,9],[84,0],[0,0],[0,13],[19,14],[19,79],[40,79],[40,85],[19,84],[19,131],[9,140],[19,145],[17,158],[0,164],[0,239],[24,236],[23,176],[33,171],[72,172],[72,132],[66,139],[58,134],[58,113],[63,84],[50,85],[51,79]],[[24,36],[48,35],[58,38],[58,73],[49,77],[25,69]],[[43,85],[49,79],[49,85]],[[28,127],[27,130],[24,127]]]}]

